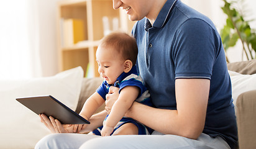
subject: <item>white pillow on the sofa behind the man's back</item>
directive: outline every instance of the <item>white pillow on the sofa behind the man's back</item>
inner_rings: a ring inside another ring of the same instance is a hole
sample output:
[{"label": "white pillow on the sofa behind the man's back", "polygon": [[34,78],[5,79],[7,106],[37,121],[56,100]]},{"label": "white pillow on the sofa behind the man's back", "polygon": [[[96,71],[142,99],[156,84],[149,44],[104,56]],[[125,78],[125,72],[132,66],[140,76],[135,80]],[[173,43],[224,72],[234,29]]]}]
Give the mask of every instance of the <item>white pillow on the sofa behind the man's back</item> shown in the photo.
[{"label": "white pillow on the sofa behind the man's back", "polygon": [[237,97],[247,91],[256,89],[256,74],[254,75],[242,75],[235,71],[229,70],[232,83],[232,98],[234,99],[234,105],[236,104]]}]

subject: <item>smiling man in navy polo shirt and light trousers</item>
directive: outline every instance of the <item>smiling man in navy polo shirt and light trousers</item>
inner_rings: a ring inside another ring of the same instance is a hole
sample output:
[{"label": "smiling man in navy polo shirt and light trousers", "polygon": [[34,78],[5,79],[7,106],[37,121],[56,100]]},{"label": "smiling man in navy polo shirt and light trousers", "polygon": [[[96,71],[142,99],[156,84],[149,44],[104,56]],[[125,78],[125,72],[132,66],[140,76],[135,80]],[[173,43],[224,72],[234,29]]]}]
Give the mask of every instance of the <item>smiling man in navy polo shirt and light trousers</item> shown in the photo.
[{"label": "smiling man in navy polo shirt and light trousers", "polygon": [[[64,142],[63,147],[73,148],[75,144],[80,148],[235,148],[231,81],[213,22],[180,0],[113,0],[113,6],[126,9],[130,20],[139,20],[132,30],[139,49],[137,69],[155,107],[134,102],[126,116],[154,129],[153,135],[50,135],[37,145],[47,142],[57,148],[55,143]],[[117,88],[110,89],[108,111],[118,95]],[[101,114],[94,117],[101,119]],[[51,124],[60,132],[68,131],[54,120]]]}]

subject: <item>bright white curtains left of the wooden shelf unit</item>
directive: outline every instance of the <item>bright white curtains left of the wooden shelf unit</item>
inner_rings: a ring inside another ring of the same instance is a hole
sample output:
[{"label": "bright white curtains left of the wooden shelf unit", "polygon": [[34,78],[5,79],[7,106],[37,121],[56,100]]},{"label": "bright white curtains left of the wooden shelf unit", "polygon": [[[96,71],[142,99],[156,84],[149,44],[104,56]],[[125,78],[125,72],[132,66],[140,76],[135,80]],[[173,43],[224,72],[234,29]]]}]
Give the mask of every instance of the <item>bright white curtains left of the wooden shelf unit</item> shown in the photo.
[{"label": "bright white curtains left of the wooden shelf unit", "polygon": [[0,2],[0,79],[58,73],[58,1]]}]

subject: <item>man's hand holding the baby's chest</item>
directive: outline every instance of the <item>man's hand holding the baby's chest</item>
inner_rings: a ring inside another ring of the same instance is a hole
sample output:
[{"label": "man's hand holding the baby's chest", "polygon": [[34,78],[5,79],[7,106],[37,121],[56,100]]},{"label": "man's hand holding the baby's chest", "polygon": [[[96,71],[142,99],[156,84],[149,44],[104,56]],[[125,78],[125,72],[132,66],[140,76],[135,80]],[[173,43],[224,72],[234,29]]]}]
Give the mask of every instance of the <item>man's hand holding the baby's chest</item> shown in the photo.
[{"label": "man's hand holding the baby's chest", "polygon": [[116,100],[119,97],[119,88],[116,88],[114,86],[111,86],[109,88],[109,93],[106,94],[106,106],[105,109],[107,111],[107,113],[109,114],[111,112],[112,106],[114,105],[114,102],[116,102]]}]

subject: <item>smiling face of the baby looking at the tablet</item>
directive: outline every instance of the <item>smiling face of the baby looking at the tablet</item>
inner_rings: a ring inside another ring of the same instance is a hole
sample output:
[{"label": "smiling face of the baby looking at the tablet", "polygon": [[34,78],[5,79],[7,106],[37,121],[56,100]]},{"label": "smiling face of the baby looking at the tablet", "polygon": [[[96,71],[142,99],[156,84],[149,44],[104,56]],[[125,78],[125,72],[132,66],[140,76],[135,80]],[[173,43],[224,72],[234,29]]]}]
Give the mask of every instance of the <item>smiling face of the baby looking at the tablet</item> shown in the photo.
[{"label": "smiling face of the baby looking at the tablet", "polygon": [[122,60],[121,56],[113,48],[106,48],[99,45],[96,52],[96,61],[99,66],[99,75],[108,84],[114,84],[116,79],[124,72],[124,60]]}]

